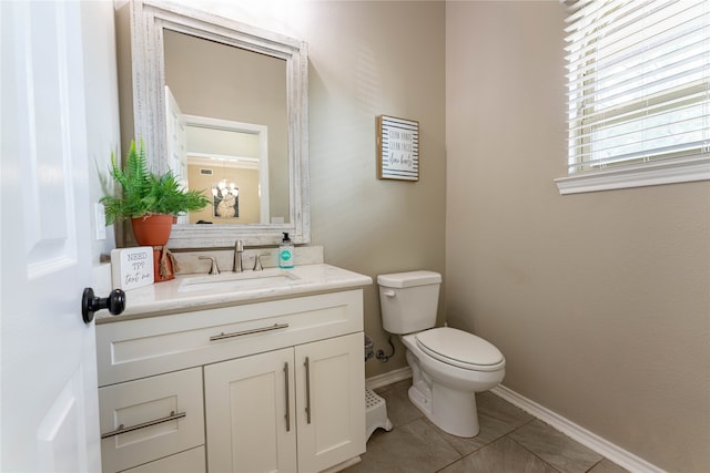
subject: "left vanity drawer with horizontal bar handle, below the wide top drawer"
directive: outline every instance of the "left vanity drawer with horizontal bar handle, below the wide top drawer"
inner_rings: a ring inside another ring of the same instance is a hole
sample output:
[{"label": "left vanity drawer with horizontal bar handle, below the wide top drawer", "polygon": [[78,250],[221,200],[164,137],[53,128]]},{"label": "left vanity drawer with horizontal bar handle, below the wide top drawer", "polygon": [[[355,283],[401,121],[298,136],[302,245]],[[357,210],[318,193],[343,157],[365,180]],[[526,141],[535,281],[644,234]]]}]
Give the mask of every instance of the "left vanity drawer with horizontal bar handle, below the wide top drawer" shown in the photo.
[{"label": "left vanity drawer with horizontal bar handle, below the wide top drawer", "polygon": [[202,368],[100,388],[99,421],[105,473],[203,445]]}]

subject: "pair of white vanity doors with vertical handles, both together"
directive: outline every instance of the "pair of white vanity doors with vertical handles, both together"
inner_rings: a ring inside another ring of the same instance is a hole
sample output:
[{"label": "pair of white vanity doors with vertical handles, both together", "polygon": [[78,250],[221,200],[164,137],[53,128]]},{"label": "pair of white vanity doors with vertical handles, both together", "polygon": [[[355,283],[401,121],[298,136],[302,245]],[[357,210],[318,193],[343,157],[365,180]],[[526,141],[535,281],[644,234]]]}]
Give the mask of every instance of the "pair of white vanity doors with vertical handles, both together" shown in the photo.
[{"label": "pair of white vanity doors with vertical handles, both together", "polygon": [[362,351],[353,333],[205,367],[209,470],[318,472],[362,453]]}]

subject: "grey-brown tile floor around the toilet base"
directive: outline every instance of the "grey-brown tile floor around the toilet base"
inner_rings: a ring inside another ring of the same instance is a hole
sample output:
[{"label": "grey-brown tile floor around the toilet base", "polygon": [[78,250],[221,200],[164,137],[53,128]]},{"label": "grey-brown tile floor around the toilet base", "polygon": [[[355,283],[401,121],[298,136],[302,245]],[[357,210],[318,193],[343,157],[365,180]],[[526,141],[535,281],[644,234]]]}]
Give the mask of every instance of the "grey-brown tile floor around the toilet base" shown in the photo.
[{"label": "grey-brown tile floor around the toilet base", "polygon": [[394,429],[377,429],[362,462],[345,472],[626,472],[490,392],[476,395],[479,434],[473,439],[449,435],[409,402],[410,383],[404,380],[375,390],[387,403]]}]

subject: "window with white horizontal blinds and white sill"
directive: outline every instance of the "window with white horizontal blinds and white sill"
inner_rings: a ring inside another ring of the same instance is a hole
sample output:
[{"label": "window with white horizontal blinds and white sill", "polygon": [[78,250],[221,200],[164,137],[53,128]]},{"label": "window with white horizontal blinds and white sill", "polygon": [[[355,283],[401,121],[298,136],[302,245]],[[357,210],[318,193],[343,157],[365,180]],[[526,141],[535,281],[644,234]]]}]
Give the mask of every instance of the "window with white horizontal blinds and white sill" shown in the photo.
[{"label": "window with white horizontal blinds and white sill", "polygon": [[710,179],[710,0],[568,4],[560,193]]}]

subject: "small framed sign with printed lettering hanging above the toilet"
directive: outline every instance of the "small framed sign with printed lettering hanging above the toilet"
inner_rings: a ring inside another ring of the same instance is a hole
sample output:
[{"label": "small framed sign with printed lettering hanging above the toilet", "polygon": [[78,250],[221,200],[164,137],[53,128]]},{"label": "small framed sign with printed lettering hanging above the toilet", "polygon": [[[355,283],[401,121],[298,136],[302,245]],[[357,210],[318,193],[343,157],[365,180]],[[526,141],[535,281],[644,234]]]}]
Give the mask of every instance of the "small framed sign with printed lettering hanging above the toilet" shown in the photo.
[{"label": "small framed sign with printed lettering hanging above the toilet", "polygon": [[419,123],[377,116],[377,178],[419,181]]}]

